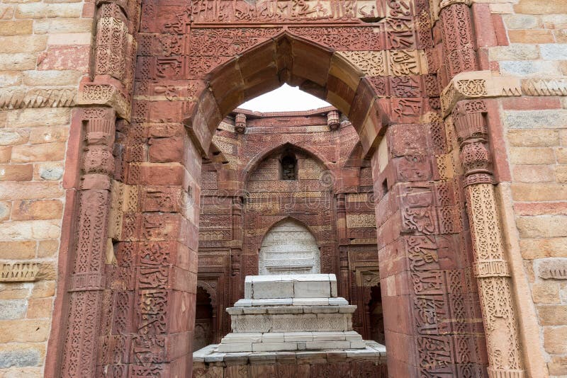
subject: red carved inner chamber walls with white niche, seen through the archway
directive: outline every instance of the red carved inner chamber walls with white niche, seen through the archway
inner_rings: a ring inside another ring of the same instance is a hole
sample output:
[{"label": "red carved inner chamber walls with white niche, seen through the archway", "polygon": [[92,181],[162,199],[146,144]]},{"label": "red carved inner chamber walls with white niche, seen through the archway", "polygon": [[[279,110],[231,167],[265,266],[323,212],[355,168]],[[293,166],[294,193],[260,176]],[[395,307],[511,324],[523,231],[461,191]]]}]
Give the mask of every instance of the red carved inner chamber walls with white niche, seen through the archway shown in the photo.
[{"label": "red carved inner chamber walls with white niche, seen through the archway", "polygon": [[201,172],[198,281],[215,315],[199,320],[213,343],[247,275],[312,273],[335,274],[354,331],[383,343],[373,191],[359,136],[332,106],[224,118]]}]

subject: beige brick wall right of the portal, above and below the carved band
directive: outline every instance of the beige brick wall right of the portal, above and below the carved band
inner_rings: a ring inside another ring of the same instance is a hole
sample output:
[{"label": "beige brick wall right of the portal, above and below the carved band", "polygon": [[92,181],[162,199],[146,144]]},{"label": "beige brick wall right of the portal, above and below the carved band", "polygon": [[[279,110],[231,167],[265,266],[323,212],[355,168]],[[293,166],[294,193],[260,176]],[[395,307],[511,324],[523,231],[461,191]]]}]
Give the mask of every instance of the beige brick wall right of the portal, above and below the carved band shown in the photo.
[{"label": "beige brick wall right of the portal, above and below the carved band", "polygon": [[[503,37],[507,42],[480,49],[492,71],[522,78],[567,76],[567,1],[489,2],[493,16],[501,17],[499,42]],[[567,267],[561,260],[567,258],[567,98],[522,96],[499,103],[514,232],[539,326],[539,348],[551,377],[565,377],[567,275],[547,277],[544,267]]]}]

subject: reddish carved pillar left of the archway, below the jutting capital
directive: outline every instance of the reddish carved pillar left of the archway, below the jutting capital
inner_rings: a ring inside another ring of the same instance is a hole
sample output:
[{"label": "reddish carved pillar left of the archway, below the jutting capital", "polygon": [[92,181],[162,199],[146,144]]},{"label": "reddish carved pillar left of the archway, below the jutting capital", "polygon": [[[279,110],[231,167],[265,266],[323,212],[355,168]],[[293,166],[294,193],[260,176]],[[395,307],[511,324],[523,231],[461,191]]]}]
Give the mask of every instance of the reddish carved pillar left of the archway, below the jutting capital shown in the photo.
[{"label": "reddish carved pillar left of the archway, below the jutting capital", "polygon": [[94,377],[106,285],[106,251],[112,147],[116,115],[112,108],[81,110],[84,125],[77,237],[69,275],[69,315],[64,336],[62,377]]}]

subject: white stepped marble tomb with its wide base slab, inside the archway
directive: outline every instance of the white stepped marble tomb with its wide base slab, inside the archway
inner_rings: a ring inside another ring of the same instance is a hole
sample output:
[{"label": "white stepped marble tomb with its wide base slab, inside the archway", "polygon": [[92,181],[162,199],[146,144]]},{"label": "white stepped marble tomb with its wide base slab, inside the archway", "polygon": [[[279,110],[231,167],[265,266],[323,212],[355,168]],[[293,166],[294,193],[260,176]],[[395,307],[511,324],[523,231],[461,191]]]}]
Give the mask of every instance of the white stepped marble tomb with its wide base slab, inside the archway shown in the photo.
[{"label": "white stepped marble tomb with its wide base slab, inside the archway", "polygon": [[232,332],[193,353],[198,367],[193,375],[205,374],[210,364],[227,368],[281,359],[316,365],[339,358],[382,366],[386,348],[352,330],[355,309],[337,297],[335,275],[247,276],[244,299],[226,309]]}]

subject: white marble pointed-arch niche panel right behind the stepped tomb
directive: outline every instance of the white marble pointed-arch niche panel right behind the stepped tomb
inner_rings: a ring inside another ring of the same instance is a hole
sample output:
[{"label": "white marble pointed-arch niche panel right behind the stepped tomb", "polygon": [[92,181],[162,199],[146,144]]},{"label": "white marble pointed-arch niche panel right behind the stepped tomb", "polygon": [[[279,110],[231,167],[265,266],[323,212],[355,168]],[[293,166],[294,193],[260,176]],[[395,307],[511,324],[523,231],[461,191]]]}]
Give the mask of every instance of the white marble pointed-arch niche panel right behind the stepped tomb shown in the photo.
[{"label": "white marble pointed-arch niche panel right behind the stepped tomb", "polygon": [[270,227],[258,254],[260,275],[321,273],[315,236],[305,224],[292,217]]}]

